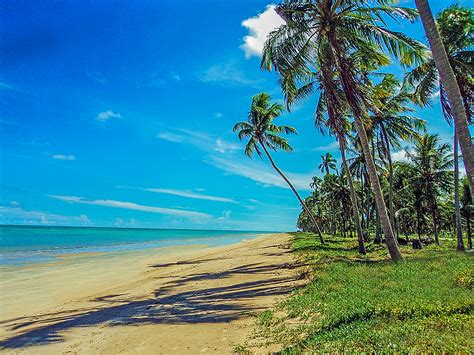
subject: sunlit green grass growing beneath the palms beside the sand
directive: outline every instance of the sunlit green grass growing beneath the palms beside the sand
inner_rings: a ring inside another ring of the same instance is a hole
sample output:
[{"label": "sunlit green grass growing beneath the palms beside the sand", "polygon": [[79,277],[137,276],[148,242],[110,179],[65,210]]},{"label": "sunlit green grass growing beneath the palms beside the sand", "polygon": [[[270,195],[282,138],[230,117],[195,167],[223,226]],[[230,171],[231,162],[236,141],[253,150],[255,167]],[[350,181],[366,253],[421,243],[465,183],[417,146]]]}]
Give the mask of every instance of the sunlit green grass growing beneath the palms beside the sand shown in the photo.
[{"label": "sunlit green grass growing beneath the palms beside the sand", "polygon": [[388,260],[383,245],[357,253],[352,239],[294,235],[293,250],[310,266],[311,281],[265,311],[257,334],[283,344],[283,353],[474,351],[472,254],[454,241],[422,250],[403,248]]}]

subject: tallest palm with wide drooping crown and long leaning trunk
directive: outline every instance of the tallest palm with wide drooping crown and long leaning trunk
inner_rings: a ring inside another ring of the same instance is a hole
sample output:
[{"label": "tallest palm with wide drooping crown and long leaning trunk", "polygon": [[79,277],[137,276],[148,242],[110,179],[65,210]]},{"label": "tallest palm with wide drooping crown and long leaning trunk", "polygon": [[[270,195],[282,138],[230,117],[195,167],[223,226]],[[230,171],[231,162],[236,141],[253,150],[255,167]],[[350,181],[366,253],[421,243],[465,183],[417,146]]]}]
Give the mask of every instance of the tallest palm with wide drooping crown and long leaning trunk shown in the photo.
[{"label": "tallest palm with wide drooping crown and long leaning trunk", "polygon": [[[317,87],[308,82],[314,70],[336,69],[345,99],[352,111],[356,130],[360,136],[369,179],[387,247],[393,260],[401,258],[387,213],[375,163],[370,151],[364,122],[371,107],[369,90],[365,84],[365,72],[358,62],[364,58],[380,65],[390,63],[384,52],[389,52],[403,65],[412,65],[423,59],[424,46],[402,33],[391,31],[384,16],[416,18],[416,11],[387,5],[379,0],[377,6],[360,0],[345,1],[284,1],[276,8],[285,24],[270,33],[264,46],[262,66],[274,67],[282,76],[285,97],[297,90],[310,95]],[[324,55],[319,55],[323,52]],[[329,54],[329,55],[326,55]],[[354,61],[354,54],[359,61]],[[362,77],[364,74],[364,77]]]}]

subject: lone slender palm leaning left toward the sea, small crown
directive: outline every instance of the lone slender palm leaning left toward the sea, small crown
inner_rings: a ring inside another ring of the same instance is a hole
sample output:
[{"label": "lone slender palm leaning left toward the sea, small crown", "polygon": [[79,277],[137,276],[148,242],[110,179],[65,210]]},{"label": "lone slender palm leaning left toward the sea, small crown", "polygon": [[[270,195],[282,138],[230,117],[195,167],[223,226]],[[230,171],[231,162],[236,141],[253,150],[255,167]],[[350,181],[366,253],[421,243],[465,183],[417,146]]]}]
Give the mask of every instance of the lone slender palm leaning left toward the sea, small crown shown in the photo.
[{"label": "lone slender palm leaning left toward the sea, small crown", "polygon": [[293,186],[291,181],[281,171],[281,169],[275,164],[270,152],[267,148],[272,150],[281,149],[286,152],[293,151],[293,148],[288,144],[285,138],[280,137],[279,134],[296,134],[296,129],[290,126],[277,126],[273,123],[273,120],[280,116],[283,112],[283,106],[277,103],[271,103],[270,95],[267,93],[260,93],[252,98],[252,104],[250,106],[250,112],[246,121],[235,124],[233,130],[238,132],[239,139],[248,138],[248,142],[245,146],[244,153],[248,157],[252,157],[254,152],[258,156],[262,156],[262,150],[268,157],[270,164],[275,171],[282,177],[282,179],[288,184],[290,189],[295,194],[296,198],[300,202],[301,206],[305,210],[314,228],[316,229],[321,243],[324,243],[321,230],[314,218],[312,211],[306,206],[306,203],[301,198],[300,194]]}]

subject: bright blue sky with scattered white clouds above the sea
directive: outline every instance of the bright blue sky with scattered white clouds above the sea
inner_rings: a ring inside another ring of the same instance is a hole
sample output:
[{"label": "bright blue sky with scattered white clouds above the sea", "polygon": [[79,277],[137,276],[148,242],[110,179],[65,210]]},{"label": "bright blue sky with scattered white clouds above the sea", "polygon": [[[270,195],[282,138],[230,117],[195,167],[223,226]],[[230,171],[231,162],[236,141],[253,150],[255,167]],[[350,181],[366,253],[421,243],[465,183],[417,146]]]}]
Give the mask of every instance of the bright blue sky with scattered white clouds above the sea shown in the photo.
[{"label": "bright blue sky with scattered white clouds above the sea", "polygon": [[[269,5],[2,1],[0,223],[293,230],[291,191],[232,133],[254,94],[281,100],[259,68]],[[280,119],[299,135],[275,153],[303,194],[320,156],[339,157],[315,102]],[[436,102],[417,115],[450,140]]]}]

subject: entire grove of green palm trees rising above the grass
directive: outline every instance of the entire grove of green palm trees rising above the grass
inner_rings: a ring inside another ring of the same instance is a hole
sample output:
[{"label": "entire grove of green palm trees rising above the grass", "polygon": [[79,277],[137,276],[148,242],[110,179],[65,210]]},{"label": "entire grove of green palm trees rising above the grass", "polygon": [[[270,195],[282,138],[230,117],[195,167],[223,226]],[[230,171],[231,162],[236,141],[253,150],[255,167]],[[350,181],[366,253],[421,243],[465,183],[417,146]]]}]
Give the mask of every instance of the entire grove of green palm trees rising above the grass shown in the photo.
[{"label": "entire grove of green palm trees rising above the grass", "polygon": [[[342,160],[337,167],[323,156],[324,177],[313,179],[306,199],[270,154],[292,150],[282,134],[296,130],[274,123],[285,108],[258,94],[247,120],[234,126],[248,139],[245,154],[264,153],[298,198],[301,229],[317,232],[321,243],[323,233],[355,234],[362,254],[373,232],[393,260],[411,234],[421,247],[423,235],[439,243],[440,233],[454,231],[464,250],[465,230],[472,247],[474,13],[452,5],[435,19],[428,1],[415,3],[418,11],[384,0],[289,0],[276,7],[285,23],[268,36],[261,66],[278,74],[288,111],[317,98],[315,125],[335,137]],[[429,47],[391,29],[393,21],[418,16]],[[404,78],[385,72],[393,63]],[[416,117],[416,108],[436,97],[453,127],[452,149]],[[405,160],[394,160],[404,146]],[[466,177],[459,181],[461,156]]]}]

